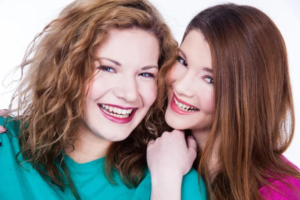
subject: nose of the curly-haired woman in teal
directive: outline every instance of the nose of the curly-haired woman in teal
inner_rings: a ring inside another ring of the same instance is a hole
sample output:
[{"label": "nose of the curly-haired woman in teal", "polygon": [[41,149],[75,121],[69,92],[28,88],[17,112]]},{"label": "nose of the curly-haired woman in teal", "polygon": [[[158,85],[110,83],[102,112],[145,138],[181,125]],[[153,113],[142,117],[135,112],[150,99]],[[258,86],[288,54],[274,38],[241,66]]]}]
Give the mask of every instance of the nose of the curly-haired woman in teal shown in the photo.
[{"label": "nose of the curly-haired woman in teal", "polygon": [[127,102],[134,102],[138,97],[138,89],[134,77],[121,78],[113,90],[116,97]]}]

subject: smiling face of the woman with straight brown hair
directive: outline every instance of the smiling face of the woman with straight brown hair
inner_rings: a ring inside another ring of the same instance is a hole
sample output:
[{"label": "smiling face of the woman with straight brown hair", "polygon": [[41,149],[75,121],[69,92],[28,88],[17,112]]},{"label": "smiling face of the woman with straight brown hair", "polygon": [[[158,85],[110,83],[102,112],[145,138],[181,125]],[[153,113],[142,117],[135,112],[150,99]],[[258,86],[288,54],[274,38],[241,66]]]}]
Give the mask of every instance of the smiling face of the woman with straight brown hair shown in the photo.
[{"label": "smiling face of the woman with straight brown hair", "polygon": [[167,124],[175,129],[209,129],[214,115],[211,55],[200,32],[190,31],[181,43],[168,83]]}]

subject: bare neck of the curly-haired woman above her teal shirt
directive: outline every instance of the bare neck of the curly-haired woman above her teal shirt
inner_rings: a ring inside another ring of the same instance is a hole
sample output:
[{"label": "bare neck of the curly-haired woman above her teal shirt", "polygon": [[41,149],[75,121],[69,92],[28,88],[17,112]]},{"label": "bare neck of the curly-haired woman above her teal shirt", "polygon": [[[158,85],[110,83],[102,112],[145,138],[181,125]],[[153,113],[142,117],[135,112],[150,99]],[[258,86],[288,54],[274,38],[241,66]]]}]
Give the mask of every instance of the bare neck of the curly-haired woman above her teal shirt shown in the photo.
[{"label": "bare neck of the curly-haired woman above her teal shirt", "polygon": [[75,133],[74,149],[72,146],[65,148],[66,154],[77,163],[85,163],[105,156],[105,150],[111,144],[94,134],[83,122]]}]

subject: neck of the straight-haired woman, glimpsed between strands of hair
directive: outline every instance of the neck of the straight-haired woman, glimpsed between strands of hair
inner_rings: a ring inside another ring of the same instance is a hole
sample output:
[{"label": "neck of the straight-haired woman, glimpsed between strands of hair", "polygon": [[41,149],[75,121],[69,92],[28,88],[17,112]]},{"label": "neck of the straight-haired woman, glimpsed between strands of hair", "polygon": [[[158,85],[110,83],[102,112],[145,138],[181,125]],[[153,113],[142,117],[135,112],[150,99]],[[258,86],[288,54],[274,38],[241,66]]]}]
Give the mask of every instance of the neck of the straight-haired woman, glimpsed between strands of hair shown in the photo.
[{"label": "neck of the straight-haired woman, glimpsed between strands of hair", "polygon": [[[211,129],[206,130],[191,130],[192,135],[194,136],[199,148],[203,152],[206,142],[208,140]],[[219,149],[219,138],[216,139],[215,144],[213,145],[210,162],[208,163],[209,174],[213,176],[213,174],[218,170],[218,149]]]}]

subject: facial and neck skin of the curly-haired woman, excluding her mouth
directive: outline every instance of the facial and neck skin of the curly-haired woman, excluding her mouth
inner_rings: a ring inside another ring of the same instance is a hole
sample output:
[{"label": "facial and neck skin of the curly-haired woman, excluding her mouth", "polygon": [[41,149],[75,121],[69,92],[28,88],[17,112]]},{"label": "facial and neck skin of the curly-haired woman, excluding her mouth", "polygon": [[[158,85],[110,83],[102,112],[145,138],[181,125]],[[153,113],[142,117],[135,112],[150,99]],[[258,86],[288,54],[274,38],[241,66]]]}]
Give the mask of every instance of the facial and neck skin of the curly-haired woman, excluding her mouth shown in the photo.
[{"label": "facial and neck skin of the curly-haired woman, excluding her mouth", "polygon": [[[112,141],[125,139],[155,100],[159,46],[157,39],[139,29],[111,30],[99,48],[94,77],[89,85],[84,118],[76,132],[75,149],[68,155],[78,163],[104,155]],[[114,60],[114,61],[109,61]],[[117,61],[121,65],[114,63]],[[144,66],[152,66],[143,70]],[[87,87],[88,88],[88,87]],[[98,103],[135,107],[131,121],[118,123],[106,118]]]}]

